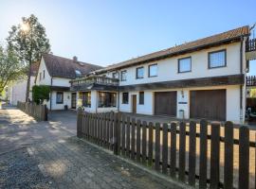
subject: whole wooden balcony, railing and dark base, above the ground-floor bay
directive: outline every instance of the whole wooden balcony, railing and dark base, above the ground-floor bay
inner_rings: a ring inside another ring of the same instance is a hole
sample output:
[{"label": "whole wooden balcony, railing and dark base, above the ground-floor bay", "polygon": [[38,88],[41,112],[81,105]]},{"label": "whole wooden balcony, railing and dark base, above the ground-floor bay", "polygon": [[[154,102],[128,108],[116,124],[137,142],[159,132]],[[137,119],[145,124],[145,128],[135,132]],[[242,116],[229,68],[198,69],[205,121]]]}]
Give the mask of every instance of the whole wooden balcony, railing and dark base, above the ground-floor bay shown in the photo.
[{"label": "whole wooden balcony, railing and dark base, above the ground-floor bay", "polygon": [[119,79],[112,77],[82,77],[70,81],[71,91],[90,91],[90,90],[116,90],[119,86]]}]

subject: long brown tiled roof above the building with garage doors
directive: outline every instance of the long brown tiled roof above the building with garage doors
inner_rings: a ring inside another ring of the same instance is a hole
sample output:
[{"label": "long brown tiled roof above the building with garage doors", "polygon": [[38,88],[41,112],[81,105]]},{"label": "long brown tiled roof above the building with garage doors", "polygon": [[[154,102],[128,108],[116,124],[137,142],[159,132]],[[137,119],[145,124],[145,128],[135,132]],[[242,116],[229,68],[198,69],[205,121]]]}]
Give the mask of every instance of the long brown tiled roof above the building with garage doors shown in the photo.
[{"label": "long brown tiled roof above the building with garage doors", "polygon": [[238,27],[223,33],[219,33],[216,35],[212,35],[207,38],[203,38],[200,40],[196,40],[190,43],[183,43],[177,46],[173,46],[171,48],[157,51],[148,55],[144,55],[141,57],[138,57],[136,59],[132,60],[126,60],[119,62],[117,64],[113,64],[110,66],[107,66],[105,68],[102,68],[101,70],[98,70],[97,73],[104,73],[107,71],[112,71],[115,69],[120,69],[124,67],[128,67],[137,63],[143,63],[151,60],[160,60],[160,59],[166,59],[169,57],[173,57],[180,54],[185,54],[189,52],[193,52],[196,50],[201,50],[203,48],[207,48],[214,45],[219,45],[222,43],[230,43],[232,41],[238,41],[243,36],[249,35],[249,26],[242,26]]}]

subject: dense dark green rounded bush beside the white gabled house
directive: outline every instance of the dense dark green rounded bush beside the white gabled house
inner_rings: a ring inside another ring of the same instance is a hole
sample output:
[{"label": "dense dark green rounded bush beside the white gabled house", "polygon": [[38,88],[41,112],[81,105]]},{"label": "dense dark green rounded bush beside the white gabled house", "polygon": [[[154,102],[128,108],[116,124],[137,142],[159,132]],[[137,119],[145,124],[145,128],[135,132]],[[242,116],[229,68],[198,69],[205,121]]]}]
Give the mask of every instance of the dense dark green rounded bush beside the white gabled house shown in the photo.
[{"label": "dense dark green rounded bush beside the white gabled house", "polygon": [[49,100],[50,88],[46,85],[34,85],[32,88],[32,99],[37,104],[42,104],[44,100]]}]

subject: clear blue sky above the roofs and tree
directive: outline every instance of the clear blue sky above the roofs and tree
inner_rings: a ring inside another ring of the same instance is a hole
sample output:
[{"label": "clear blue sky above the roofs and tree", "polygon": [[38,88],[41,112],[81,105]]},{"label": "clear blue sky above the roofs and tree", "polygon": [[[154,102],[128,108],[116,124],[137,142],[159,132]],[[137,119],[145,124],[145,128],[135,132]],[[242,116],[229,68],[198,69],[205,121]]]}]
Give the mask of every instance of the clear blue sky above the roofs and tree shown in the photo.
[{"label": "clear blue sky above the roofs and tree", "polygon": [[[0,43],[10,26],[33,13],[54,54],[106,66],[252,25],[255,7],[255,0],[0,0]],[[256,75],[256,61],[250,74]]]}]

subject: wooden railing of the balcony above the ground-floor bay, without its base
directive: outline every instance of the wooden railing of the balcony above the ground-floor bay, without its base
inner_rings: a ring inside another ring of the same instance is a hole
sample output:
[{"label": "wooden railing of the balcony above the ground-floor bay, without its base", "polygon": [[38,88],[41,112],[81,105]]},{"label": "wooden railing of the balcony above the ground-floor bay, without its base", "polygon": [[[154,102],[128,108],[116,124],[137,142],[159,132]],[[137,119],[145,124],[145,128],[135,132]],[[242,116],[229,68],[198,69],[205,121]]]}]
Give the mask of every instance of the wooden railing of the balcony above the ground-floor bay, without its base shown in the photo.
[{"label": "wooden railing of the balcony above the ground-floor bay, without its base", "polygon": [[77,78],[70,81],[71,87],[78,86],[83,84],[101,84],[101,85],[109,85],[109,86],[119,86],[119,79],[112,77],[101,77],[101,76],[93,76],[93,77],[83,77]]}]

